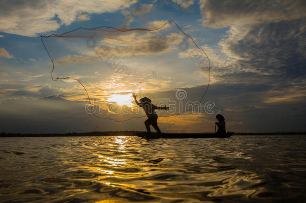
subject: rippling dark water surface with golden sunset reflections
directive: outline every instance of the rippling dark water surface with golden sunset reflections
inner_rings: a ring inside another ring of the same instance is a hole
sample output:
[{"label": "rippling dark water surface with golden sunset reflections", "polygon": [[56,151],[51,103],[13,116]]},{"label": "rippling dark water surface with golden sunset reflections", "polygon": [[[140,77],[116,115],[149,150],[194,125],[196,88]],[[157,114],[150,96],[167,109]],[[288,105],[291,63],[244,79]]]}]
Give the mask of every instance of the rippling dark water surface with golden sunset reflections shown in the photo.
[{"label": "rippling dark water surface with golden sunset reflections", "polygon": [[0,137],[0,201],[306,199],[306,136]]}]

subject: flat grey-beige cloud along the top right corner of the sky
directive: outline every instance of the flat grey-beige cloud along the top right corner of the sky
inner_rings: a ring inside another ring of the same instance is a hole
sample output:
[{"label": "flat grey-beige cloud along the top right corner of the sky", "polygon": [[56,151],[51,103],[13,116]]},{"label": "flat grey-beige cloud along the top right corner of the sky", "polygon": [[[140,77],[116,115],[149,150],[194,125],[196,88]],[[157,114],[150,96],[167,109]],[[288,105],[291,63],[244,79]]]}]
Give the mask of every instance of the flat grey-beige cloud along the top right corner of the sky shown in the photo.
[{"label": "flat grey-beige cloud along the top right corner of the sky", "polygon": [[277,23],[306,16],[304,12],[306,4],[303,0],[268,2],[264,0],[229,0],[220,2],[201,0],[200,9],[203,25],[212,28],[255,23]]}]

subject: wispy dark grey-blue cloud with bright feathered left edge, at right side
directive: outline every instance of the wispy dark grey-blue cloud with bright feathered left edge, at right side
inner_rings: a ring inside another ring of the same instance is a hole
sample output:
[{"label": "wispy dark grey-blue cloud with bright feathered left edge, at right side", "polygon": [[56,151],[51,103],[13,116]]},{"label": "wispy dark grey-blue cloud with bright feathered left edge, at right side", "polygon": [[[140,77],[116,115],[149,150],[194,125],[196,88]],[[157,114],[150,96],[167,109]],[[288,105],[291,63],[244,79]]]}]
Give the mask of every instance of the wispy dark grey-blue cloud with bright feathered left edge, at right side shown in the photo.
[{"label": "wispy dark grey-blue cloud with bright feathered left edge, at right side", "polygon": [[296,78],[305,74],[304,23],[293,20],[232,26],[220,46],[223,53],[232,58],[238,67],[243,67],[244,71]]}]

